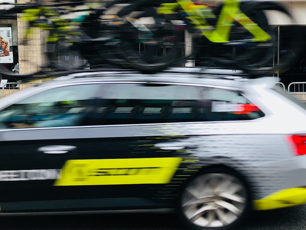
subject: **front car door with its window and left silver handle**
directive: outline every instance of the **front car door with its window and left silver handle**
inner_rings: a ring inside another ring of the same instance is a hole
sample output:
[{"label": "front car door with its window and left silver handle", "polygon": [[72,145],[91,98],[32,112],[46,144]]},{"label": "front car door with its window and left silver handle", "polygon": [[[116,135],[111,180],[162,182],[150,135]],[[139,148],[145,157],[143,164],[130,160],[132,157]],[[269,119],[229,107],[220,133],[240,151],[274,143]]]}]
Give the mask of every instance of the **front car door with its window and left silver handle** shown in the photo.
[{"label": "front car door with its window and left silver handle", "polygon": [[85,195],[54,182],[67,160],[80,158],[84,121],[99,88],[98,83],[54,86],[1,109],[2,211],[79,208],[73,199]]}]

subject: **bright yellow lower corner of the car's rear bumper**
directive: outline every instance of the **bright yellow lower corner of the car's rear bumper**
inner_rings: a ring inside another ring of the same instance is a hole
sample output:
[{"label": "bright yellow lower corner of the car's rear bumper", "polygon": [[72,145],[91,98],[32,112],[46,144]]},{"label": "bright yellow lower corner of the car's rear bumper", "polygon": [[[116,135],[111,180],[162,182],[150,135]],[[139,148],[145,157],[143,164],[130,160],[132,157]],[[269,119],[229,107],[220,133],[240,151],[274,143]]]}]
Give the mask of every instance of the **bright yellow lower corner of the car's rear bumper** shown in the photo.
[{"label": "bright yellow lower corner of the car's rear bumper", "polygon": [[255,210],[278,209],[304,203],[306,203],[306,188],[283,189],[253,201]]}]

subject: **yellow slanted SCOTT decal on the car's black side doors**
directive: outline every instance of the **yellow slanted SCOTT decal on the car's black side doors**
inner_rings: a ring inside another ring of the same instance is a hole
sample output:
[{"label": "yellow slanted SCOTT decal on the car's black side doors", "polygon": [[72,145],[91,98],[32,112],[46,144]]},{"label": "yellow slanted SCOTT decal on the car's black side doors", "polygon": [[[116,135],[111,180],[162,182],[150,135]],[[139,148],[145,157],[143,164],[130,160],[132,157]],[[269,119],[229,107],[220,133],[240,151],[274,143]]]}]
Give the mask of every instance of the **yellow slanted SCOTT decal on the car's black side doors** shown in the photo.
[{"label": "yellow slanted SCOTT decal on the car's black side doors", "polygon": [[181,160],[178,157],[68,160],[54,185],[166,184]]}]

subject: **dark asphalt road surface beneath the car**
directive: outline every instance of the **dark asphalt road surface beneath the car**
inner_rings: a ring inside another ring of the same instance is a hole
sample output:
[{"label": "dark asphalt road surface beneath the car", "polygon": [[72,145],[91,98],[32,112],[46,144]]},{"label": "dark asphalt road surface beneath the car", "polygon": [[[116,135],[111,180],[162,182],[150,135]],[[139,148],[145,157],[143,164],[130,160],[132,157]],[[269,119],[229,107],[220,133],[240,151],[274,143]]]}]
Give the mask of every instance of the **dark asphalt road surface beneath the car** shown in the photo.
[{"label": "dark asphalt road surface beneath the car", "polygon": [[[184,230],[172,214],[2,216],[3,230]],[[235,230],[305,230],[306,205],[253,212]]]}]

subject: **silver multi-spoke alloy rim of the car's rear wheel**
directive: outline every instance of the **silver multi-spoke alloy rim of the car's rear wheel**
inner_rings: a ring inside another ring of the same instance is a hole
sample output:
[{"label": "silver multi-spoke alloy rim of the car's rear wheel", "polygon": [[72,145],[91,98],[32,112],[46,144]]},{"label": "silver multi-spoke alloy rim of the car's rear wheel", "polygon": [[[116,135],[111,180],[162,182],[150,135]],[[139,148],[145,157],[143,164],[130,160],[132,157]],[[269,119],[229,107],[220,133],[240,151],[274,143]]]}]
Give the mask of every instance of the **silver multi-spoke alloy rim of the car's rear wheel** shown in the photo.
[{"label": "silver multi-spoke alloy rim of the car's rear wheel", "polygon": [[185,217],[201,227],[227,226],[241,217],[247,205],[243,182],[230,174],[203,174],[185,188],[181,208]]}]

